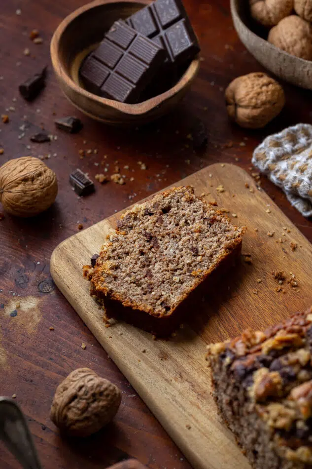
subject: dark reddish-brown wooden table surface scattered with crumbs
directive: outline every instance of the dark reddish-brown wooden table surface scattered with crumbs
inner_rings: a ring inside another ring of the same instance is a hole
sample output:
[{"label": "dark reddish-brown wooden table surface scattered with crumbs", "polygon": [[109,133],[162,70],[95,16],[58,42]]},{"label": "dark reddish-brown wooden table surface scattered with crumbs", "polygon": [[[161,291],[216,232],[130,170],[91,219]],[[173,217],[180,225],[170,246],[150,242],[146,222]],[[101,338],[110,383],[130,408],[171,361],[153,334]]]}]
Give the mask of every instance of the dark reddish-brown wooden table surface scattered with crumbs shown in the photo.
[{"label": "dark reddish-brown wooden table surface scattered with crumbs", "polygon": [[[35,219],[6,215],[0,221],[0,394],[16,394],[45,469],[105,468],[128,456],[150,468],[187,469],[189,464],[173,441],[54,286],[50,255],[57,244],[77,232],[78,223],[87,228],[211,163],[231,162],[251,171],[252,151],[264,136],[311,121],[311,92],[284,84],[286,106],[264,130],[246,131],[231,124],[224,106],[225,87],[233,78],[262,68],[240,43],[228,0],[185,0],[204,59],[192,90],[172,115],[146,127],[120,130],[104,126],[73,109],[50,65],[53,31],[83,3],[0,2],[0,114],[10,118],[9,123],[0,123],[0,148],[4,150],[0,163],[19,156],[50,155],[45,161],[59,181],[57,201],[46,213]],[[40,31],[42,44],[29,39],[34,28]],[[25,48],[30,49],[30,56],[24,55]],[[18,85],[46,64],[46,89],[29,104],[19,96]],[[80,117],[83,130],[74,136],[57,131],[54,113]],[[208,129],[208,146],[200,152],[194,151],[187,138],[199,121]],[[29,137],[41,127],[55,135],[51,143],[30,142]],[[86,154],[82,159],[80,149]],[[114,173],[115,165],[126,175],[125,185],[96,182],[96,193],[86,198],[72,192],[69,173],[73,169],[80,168],[94,179],[104,168],[105,174]],[[312,240],[311,222],[265,178],[262,187]],[[11,315],[18,303],[17,315]],[[61,380],[81,366],[116,383],[123,402],[114,424],[105,430],[83,441],[62,439],[49,420],[51,400]],[[2,446],[0,467],[18,467]]]}]

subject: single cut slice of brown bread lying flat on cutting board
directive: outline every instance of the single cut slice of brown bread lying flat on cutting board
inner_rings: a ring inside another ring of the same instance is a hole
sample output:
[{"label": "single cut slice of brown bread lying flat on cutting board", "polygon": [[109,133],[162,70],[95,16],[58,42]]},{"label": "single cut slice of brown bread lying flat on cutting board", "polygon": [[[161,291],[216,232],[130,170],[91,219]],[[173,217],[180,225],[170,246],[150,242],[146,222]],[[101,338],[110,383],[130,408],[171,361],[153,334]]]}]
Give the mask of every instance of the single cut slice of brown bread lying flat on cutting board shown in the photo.
[{"label": "single cut slice of brown bread lying flat on cutting board", "polygon": [[192,187],[173,188],[126,212],[84,275],[107,317],[166,336],[190,294],[233,264],[243,232]]}]

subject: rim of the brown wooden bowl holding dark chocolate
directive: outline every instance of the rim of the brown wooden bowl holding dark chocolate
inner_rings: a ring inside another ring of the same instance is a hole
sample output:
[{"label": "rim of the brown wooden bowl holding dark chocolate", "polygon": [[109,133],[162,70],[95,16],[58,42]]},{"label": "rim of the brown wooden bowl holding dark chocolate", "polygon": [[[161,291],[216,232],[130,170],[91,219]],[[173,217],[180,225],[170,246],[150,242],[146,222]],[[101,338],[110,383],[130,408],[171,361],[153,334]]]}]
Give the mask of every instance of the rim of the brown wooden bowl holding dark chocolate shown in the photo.
[{"label": "rim of the brown wooden bowl holding dark chocolate", "polygon": [[126,104],[120,103],[119,101],[114,101],[112,99],[101,98],[101,96],[97,96],[96,94],[90,93],[89,91],[85,90],[77,83],[73,81],[72,78],[66,73],[64,68],[61,66],[61,62],[58,60],[59,57],[59,44],[62,40],[62,36],[69,26],[69,24],[74,21],[78,16],[85,13],[92,8],[97,6],[106,5],[108,3],[141,3],[141,4],[148,4],[150,3],[149,0],[93,0],[90,3],[86,3],[83,6],[80,6],[73,12],[71,12],[64,20],[59,24],[57,29],[55,30],[53,37],[51,39],[50,44],[50,55],[52,60],[52,66],[54,68],[55,73],[57,74],[58,78],[63,82],[66,83],[73,91],[76,93],[97,102],[100,105],[106,105],[111,109],[118,110],[125,114],[129,115],[142,115],[146,114],[152,109],[157,106],[160,106],[163,102],[167,101],[168,99],[172,98],[175,94],[181,91],[184,87],[186,87],[192,79],[195,77],[199,66],[200,66],[200,59],[199,57],[195,58],[191,64],[189,65],[188,69],[185,71],[184,75],[179,79],[179,81],[169,90],[165,91],[162,94],[154,96],[146,101],[142,101],[138,104]]}]

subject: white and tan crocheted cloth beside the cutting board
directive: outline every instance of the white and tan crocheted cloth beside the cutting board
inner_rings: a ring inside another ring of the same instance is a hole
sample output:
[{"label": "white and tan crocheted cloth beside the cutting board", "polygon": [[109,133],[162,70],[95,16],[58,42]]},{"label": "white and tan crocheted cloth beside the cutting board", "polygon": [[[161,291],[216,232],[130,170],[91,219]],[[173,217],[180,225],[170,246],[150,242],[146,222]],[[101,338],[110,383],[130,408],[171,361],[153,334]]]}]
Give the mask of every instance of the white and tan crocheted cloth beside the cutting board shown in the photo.
[{"label": "white and tan crocheted cloth beside the cutting board", "polygon": [[304,217],[312,216],[312,125],[297,124],[270,135],[253,152],[252,163]]}]

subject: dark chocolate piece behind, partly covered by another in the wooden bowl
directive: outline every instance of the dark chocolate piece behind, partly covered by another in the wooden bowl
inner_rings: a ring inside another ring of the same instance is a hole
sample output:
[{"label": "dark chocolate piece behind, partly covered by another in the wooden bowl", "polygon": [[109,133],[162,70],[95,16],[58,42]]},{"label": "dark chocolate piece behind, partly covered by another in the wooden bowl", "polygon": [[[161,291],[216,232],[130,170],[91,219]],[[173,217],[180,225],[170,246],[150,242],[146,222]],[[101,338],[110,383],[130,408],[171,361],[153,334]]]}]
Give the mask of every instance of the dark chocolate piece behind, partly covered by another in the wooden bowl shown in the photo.
[{"label": "dark chocolate piece behind, partly covered by another in the wooden bowl", "polygon": [[177,68],[192,60],[200,46],[181,0],[156,0],[126,23],[166,51],[166,65]]}]

